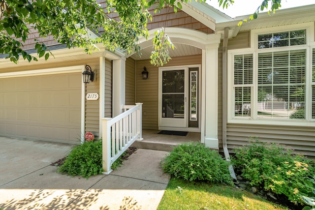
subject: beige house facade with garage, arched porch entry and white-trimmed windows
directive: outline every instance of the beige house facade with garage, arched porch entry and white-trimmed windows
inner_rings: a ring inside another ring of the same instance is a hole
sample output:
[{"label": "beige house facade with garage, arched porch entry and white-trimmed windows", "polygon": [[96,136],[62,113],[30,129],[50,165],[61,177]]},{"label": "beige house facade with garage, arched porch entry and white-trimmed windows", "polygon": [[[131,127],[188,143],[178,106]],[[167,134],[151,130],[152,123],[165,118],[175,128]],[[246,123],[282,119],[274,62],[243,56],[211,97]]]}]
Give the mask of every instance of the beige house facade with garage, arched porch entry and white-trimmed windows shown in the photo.
[{"label": "beige house facade with garage, arched porch entry and white-trimmed windows", "polygon": [[[0,135],[79,144],[86,132],[102,135],[102,118],[141,102],[143,129],[198,132],[201,143],[220,150],[258,137],[315,156],[315,5],[262,13],[242,27],[245,17],[195,1],[152,15],[141,57],[101,44],[87,55],[48,37],[55,58],[0,59]],[[151,39],[161,27],[176,49],[156,67]],[[96,75],[89,84],[82,82],[86,64]]]}]

